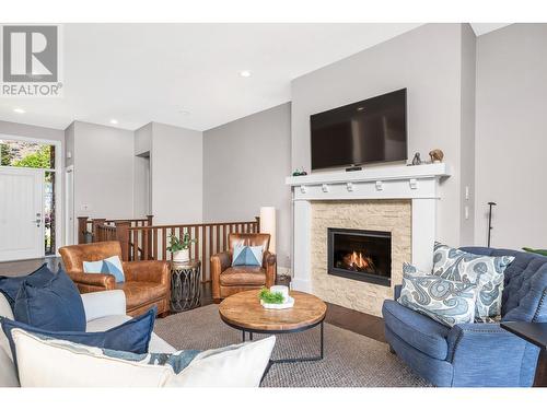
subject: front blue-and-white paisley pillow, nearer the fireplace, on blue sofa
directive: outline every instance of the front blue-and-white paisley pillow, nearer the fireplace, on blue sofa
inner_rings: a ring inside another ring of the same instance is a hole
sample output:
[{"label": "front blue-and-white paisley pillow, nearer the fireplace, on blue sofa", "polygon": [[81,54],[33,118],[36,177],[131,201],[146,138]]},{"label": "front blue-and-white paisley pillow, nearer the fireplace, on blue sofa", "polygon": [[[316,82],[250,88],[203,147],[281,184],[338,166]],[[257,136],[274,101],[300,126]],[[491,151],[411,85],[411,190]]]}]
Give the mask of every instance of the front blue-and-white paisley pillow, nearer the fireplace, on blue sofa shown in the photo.
[{"label": "front blue-and-white paisley pillow, nearer the fireplace, on blue sofa", "polygon": [[472,283],[420,272],[414,266],[405,263],[403,290],[397,302],[452,327],[474,321],[476,288]]}]

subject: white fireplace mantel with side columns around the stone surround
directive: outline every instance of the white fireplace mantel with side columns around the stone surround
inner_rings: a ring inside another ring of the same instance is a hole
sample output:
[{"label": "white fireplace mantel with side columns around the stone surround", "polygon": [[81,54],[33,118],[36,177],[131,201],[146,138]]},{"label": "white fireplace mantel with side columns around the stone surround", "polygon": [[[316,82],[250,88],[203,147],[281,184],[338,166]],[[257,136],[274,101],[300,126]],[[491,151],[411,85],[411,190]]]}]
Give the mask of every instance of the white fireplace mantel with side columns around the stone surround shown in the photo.
[{"label": "white fireplace mantel with side columns around the stone surround", "polygon": [[435,239],[439,181],[450,176],[444,163],[394,165],[363,171],[292,176],[293,288],[313,293],[311,283],[312,201],[409,199],[412,207],[412,265],[430,270]]}]

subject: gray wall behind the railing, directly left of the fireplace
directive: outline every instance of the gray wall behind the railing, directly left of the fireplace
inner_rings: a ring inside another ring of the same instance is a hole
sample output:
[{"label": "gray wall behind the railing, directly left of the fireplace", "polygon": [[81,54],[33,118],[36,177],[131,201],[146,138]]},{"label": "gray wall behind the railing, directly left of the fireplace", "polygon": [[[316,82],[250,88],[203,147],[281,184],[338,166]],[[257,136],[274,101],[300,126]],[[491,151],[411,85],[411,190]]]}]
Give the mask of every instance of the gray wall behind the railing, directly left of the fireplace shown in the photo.
[{"label": "gray wall behind the railing, directly left of the fireplace", "polygon": [[291,255],[290,159],[290,103],[203,132],[205,221],[252,221],[276,207],[280,267]]}]

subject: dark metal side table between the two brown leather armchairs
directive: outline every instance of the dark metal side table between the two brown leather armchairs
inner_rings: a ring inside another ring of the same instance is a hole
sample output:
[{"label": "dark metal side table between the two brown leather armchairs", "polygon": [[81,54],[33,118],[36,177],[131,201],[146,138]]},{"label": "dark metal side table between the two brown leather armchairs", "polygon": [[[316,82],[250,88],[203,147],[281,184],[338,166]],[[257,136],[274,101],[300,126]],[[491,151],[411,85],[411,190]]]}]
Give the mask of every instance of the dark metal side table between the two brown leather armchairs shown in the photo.
[{"label": "dark metal side table between the two brown leather armchairs", "polygon": [[201,261],[171,262],[171,312],[189,311],[201,305]]}]

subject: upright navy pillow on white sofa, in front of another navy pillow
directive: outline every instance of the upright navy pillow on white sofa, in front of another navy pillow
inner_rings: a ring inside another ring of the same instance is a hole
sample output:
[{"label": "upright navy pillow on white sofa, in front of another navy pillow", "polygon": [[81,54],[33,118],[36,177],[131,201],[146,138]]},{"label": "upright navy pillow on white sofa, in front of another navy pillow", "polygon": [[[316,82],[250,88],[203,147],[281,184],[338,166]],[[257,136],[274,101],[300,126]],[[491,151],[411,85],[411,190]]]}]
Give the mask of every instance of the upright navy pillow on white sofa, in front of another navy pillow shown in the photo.
[{"label": "upright navy pillow on white sofa, in front of another navy pillow", "polygon": [[33,276],[21,284],[13,317],[50,331],[85,331],[86,326],[82,297],[60,265],[50,280],[38,281]]}]

